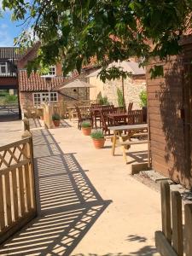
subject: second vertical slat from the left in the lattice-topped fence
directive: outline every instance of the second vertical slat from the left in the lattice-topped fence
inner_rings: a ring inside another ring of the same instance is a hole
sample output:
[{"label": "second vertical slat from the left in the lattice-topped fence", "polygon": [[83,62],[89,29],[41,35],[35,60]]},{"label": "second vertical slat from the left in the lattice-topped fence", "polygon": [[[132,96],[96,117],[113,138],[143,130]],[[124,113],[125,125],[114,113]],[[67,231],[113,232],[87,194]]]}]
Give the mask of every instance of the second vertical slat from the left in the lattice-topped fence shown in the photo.
[{"label": "second vertical slat from the left in the lattice-topped fence", "polygon": [[11,214],[9,172],[5,174],[4,181],[5,181],[5,195],[6,195],[6,208],[7,208],[7,224],[10,225],[12,223],[12,214]]}]

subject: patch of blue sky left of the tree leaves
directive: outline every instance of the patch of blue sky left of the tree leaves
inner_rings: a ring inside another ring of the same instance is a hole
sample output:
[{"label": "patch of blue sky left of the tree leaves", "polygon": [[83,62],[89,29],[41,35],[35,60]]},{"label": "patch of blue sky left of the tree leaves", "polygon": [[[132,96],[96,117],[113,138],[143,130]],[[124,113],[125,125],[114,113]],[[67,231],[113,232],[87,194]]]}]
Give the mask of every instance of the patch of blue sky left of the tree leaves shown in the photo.
[{"label": "patch of blue sky left of the tree leaves", "polygon": [[[2,0],[0,0],[1,9]],[[0,18],[0,47],[14,46],[14,38],[20,34],[21,27],[19,23],[10,20],[9,10],[3,12],[3,18]]]}]

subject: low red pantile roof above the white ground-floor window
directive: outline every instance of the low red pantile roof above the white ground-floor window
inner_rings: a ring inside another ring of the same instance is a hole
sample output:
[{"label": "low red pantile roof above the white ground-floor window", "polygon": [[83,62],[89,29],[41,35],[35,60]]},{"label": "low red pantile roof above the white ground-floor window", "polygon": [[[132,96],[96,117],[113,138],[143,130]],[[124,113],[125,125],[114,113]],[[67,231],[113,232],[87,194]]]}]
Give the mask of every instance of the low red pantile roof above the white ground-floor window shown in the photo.
[{"label": "low red pantile roof above the white ground-floor window", "polygon": [[[79,76],[78,73],[73,73],[73,78]],[[71,78],[70,78],[71,79]],[[18,80],[20,91],[39,91],[39,90],[48,90],[48,86],[50,90],[58,90],[58,88],[67,80],[62,76],[52,77],[50,79],[50,85],[46,83],[46,78],[41,77],[38,73],[32,72],[30,77],[28,78],[26,70],[19,70]]]}]

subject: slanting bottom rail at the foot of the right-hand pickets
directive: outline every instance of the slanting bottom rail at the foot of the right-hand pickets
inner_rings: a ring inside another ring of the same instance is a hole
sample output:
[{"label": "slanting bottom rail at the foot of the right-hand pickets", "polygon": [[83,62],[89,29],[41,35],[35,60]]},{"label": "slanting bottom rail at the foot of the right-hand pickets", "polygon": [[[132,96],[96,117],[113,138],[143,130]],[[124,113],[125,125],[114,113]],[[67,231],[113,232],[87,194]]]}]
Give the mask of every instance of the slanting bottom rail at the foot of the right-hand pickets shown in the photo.
[{"label": "slanting bottom rail at the foot of the right-hand pickets", "polygon": [[177,253],[161,231],[155,232],[155,246],[161,256],[177,256]]}]

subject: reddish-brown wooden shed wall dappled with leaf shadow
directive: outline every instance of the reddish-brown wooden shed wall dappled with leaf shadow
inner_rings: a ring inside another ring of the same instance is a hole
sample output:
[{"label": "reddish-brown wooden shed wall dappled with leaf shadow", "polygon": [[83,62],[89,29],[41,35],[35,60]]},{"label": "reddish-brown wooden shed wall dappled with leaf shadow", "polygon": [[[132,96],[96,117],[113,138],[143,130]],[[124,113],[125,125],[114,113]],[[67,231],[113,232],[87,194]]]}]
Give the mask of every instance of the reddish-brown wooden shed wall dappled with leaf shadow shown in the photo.
[{"label": "reddish-brown wooden shed wall dappled with leaf shadow", "polygon": [[[154,65],[163,65],[164,78],[150,79],[149,70]],[[147,67],[148,123],[152,168],[190,188],[191,167],[183,116],[186,108],[184,70],[183,55],[173,56],[166,62],[157,58],[150,61]]]}]

